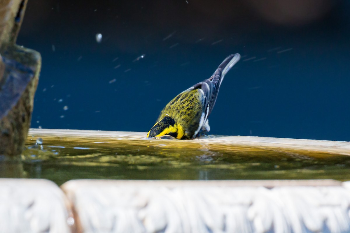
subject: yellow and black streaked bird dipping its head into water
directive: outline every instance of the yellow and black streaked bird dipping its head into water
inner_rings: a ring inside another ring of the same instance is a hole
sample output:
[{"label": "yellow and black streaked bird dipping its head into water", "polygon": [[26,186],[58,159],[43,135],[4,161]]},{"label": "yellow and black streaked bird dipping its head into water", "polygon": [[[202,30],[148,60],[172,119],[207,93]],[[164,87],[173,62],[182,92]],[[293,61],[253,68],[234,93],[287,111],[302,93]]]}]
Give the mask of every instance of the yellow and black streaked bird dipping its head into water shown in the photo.
[{"label": "yellow and black streaked bird dipping its head into water", "polygon": [[210,130],[208,117],[215,105],[225,74],[240,59],[228,56],[209,79],[198,82],[175,96],[161,111],[147,138],[194,139]]}]

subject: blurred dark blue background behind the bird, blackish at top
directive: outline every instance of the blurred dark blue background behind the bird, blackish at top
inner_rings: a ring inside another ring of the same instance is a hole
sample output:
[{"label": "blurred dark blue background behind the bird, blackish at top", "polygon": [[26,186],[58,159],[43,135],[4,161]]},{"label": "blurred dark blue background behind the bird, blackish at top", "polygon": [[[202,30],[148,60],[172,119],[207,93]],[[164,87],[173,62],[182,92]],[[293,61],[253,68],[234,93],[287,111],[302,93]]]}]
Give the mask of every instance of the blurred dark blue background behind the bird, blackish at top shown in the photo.
[{"label": "blurred dark blue background behind the bird, blackish at top", "polygon": [[148,131],[238,52],[210,133],[349,141],[350,3],[253,2],[29,0],[18,44],[43,59],[31,127]]}]

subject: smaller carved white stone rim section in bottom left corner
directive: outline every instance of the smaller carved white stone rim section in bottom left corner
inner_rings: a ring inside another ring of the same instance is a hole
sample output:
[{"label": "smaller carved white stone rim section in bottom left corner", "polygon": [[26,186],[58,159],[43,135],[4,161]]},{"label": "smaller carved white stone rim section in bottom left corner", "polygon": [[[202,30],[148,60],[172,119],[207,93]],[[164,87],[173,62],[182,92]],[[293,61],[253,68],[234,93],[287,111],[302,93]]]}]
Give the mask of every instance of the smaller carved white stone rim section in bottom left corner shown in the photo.
[{"label": "smaller carved white stone rim section in bottom left corner", "polygon": [[72,213],[59,187],[48,180],[0,179],[0,232],[71,232]]}]

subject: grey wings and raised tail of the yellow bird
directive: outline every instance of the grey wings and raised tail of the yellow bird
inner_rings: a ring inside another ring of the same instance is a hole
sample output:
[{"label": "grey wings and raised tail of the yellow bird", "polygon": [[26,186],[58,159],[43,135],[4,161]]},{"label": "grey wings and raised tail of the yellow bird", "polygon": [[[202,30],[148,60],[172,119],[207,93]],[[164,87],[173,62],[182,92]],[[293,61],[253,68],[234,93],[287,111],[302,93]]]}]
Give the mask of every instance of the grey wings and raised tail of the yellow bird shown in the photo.
[{"label": "grey wings and raised tail of the yellow bird", "polygon": [[208,116],[210,115],[219,93],[219,87],[221,85],[224,76],[229,70],[235,65],[240,59],[240,55],[238,53],[231,54],[228,56],[216,69],[213,75],[209,79],[205,79],[202,82],[198,82],[196,85],[188,88],[186,91],[201,89],[203,91],[203,101],[204,101],[204,113],[205,113],[205,123],[207,121]]}]

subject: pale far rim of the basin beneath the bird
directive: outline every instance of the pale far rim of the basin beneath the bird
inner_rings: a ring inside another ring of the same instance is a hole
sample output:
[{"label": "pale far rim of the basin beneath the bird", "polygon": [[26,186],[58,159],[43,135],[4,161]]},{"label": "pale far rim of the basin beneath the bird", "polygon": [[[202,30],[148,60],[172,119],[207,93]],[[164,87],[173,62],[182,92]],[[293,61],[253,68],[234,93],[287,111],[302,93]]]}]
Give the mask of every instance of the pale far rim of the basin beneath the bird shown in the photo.
[{"label": "pale far rim of the basin beneath the bird", "polygon": [[[164,139],[147,139],[146,132],[123,132],[123,131],[99,131],[99,130],[62,130],[62,129],[30,129],[28,136],[31,137],[65,137],[69,140],[78,140],[82,138],[95,140],[127,140],[128,143],[159,143]],[[250,146],[278,148],[282,150],[306,150],[315,152],[327,152],[334,154],[350,155],[350,142],[346,141],[327,141],[310,139],[291,139],[291,138],[268,138],[254,136],[211,136],[194,140],[166,140],[167,144],[174,146],[181,144],[186,147],[194,144],[202,145],[230,145],[230,146]]]}]

